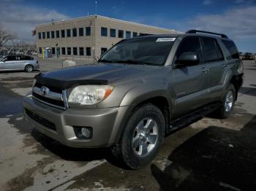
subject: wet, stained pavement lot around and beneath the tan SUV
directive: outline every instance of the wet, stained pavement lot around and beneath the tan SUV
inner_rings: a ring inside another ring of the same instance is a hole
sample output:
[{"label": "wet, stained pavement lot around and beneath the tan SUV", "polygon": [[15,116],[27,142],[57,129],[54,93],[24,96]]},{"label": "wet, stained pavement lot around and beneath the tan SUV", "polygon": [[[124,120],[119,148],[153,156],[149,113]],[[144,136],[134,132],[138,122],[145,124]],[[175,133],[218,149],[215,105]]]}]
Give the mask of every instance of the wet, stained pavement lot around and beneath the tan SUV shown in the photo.
[{"label": "wet, stained pavement lot around and beneath the tan SUV", "polygon": [[[59,68],[41,62],[42,70]],[[108,149],[72,149],[23,120],[38,71],[0,73],[0,190],[256,190],[256,64],[227,120],[204,118],[167,136],[153,163],[118,167]]]}]

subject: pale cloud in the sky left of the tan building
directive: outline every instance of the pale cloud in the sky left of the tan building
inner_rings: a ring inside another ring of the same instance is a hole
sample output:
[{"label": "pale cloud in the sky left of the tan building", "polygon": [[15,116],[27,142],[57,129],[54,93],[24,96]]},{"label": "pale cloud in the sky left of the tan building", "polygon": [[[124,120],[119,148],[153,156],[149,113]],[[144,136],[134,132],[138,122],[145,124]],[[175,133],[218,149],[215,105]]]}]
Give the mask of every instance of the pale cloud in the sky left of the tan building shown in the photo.
[{"label": "pale cloud in the sky left of the tan building", "polygon": [[54,9],[43,9],[39,7],[23,6],[13,4],[10,0],[1,0],[0,23],[7,30],[17,34],[20,40],[34,42],[31,31],[39,23],[49,23],[51,20],[68,19],[69,16],[63,15]]}]

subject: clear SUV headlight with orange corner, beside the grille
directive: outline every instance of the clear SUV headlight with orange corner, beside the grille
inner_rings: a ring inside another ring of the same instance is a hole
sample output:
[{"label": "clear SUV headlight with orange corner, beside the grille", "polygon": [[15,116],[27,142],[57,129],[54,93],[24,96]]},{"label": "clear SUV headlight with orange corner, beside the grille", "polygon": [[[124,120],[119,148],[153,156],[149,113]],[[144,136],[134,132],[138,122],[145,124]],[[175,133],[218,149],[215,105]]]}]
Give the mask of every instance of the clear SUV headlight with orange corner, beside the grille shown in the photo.
[{"label": "clear SUV headlight with orange corner, beside the grille", "polygon": [[112,93],[110,85],[79,85],[69,95],[69,103],[94,105],[104,100]]}]

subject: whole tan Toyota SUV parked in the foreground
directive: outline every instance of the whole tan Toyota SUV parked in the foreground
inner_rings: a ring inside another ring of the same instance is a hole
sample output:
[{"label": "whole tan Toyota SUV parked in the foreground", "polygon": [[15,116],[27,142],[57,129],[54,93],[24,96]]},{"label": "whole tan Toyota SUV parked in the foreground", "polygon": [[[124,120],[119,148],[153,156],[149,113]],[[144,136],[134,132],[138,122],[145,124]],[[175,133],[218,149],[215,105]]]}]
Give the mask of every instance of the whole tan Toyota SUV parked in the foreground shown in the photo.
[{"label": "whole tan Toyota SUV parked in the foreground", "polygon": [[225,34],[138,36],[118,42],[98,63],[38,74],[24,114],[62,144],[110,147],[138,169],[170,131],[214,111],[228,117],[243,79],[236,45]]}]

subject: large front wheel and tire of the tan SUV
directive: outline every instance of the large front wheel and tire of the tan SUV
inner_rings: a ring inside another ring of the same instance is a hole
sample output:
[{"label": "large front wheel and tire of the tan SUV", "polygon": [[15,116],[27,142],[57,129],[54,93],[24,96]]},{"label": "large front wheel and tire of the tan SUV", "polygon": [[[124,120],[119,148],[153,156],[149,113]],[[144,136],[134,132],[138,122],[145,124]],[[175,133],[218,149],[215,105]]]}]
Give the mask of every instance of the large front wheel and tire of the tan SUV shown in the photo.
[{"label": "large front wheel and tire of the tan SUV", "polygon": [[[148,128],[146,128],[148,127]],[[157,155],[165,136],[162,112],[152,104],[140,106],[132,113],[118,143],[111,148],[118,163],[139,169]]]}]

